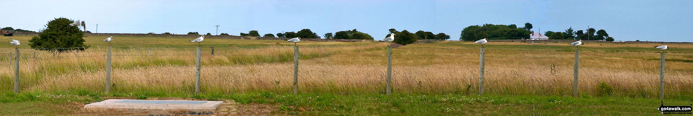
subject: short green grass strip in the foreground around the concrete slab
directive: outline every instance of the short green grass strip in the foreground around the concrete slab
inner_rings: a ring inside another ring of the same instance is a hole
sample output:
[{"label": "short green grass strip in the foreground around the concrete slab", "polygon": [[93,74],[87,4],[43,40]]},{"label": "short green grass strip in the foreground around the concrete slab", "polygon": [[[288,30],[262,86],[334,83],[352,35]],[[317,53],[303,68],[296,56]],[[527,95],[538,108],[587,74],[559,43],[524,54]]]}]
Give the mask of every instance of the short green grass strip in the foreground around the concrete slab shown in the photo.
[{"label": "short green grass strip in the foreground around the concrete slab", "polygon": [[[553,95],[458,94],[301,94],[249,93],[3,93],[1,115],[89,115],[80,109],[103,99],[179,99],[222,101],[238,107],[268,104],[274,115],[658,115],[658,99],[628,97],[565,97]],[[665,99],[667,106],[689,106],[690,99]],[[91,114],[96,115],[96,114]],[[137,114],[146,115],[146,114]]]}]

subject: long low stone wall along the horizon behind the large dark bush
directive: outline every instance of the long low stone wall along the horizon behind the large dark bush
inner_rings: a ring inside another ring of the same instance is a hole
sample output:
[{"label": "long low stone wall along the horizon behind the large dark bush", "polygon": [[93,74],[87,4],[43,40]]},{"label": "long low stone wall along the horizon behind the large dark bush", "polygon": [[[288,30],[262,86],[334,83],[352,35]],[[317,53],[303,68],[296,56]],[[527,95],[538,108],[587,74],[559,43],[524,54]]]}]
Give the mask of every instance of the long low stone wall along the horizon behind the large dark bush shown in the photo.
[{"label": "long low stone wall along the horizon behind the large dark bush", "polygon": [[[15,35],[38,35],[38,32],[15,32]],[[161,34],[138,34],[138,33],[85,33],[85,36],[114,36],[114,37],[178,37],[178,38],[198,38],[201,35],[161,35]],[[260,40],[286,40],[290,38],[275,37],[242,37],[233,35],[205,35],[204,38],[216,39],[260,39]],[[301,39],[301,41],[342,41],[342,42],[371,42],[371,40],[361,39]]]}]

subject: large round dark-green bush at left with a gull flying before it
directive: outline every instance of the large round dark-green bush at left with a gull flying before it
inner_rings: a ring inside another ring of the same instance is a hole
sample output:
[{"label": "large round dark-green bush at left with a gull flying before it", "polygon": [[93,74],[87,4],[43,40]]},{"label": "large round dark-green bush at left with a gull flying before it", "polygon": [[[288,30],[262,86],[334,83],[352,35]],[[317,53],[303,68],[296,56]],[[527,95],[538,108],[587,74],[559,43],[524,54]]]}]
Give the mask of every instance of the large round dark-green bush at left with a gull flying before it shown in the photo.
[{"label": "large round dark-green bush at left with a gull flying before it", "polygon": [[[58,18],[49,21],[46,29],[41,30],[38,36],[29,40],[29,46],[37,50],[55,48],[75,48],[75,49],[55,49],[62,52],[66,50],[85,50],[89,46],[85,45],[84,32],[77,26],[69,26],[73,23],[70,19]],[[80,48],[77,48],[80,47]]]}]

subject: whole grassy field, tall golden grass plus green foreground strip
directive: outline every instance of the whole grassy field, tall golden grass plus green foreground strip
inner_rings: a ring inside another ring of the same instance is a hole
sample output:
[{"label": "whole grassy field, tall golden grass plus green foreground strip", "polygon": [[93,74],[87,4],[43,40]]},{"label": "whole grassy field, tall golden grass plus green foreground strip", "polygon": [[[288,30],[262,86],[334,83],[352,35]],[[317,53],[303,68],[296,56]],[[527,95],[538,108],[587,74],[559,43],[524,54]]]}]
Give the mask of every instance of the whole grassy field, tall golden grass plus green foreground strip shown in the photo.
[{"label": "whole grassy field, tall golden grass plus green foreground strip", "polygon": [[[106,37],[85,38],[91,48],[78,52],[31,50],[30,37],[12,38],[23,41],[21,93],[11,93],[14,46],[0,44],[0,115],[152,114],[80,109],[103,99],[229,101],[237,105],[225,104],[218,114],[234,106],[238,115],[653,115],[660,105],[653,99],[661,52],[655,44],[580,46],[581,97],[570,97],[574,47],[568,43],[486,44],[482,96],[475,95],[480,46],[410,44],[393,50],[394,95],[387,96],[387,43],[299,42],[301,94],[292,95],[292,43],[206,39],[202,94],[193,94],[196,43],[114,37],[113,88],[101,93]],[[669,45],[666,52],[665,105],[691,104],[693,46]]]}]

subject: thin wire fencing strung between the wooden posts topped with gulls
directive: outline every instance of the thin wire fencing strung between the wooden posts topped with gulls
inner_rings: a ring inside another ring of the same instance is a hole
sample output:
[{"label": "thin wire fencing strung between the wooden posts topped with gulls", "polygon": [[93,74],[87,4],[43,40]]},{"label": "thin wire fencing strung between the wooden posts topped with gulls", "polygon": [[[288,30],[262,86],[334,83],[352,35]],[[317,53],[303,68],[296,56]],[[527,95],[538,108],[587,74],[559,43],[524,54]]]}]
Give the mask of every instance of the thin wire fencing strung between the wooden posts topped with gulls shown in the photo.
[{"label": "thin wire fencing strung between the wooden posts topped with gulls", "polygon": [[[480,55],[478,48],[402,47],[388,53],[386,46],[203,47],[198,60],[195,49],[22,49],[19,57],[15,49],[3,49],[0,91],[15,90],[18,58],[20,92],[292,93],[296,86],[299,93],[573,95],[577,87],[579,95],[693,96],[691,63],[667,61],[664,88],[660,88],[660,61],[655,59],[659,56],[651,52],[580,52],[575,86],[574,51],[565,50],[488,48]],[[295,55],[295,50],[299,54]],[[293,65],[295,57],[297,68]],[[107,62],[112,63],[110,84]],[[388,67],[388,62],[392,66]],[[390,78],[388,68],[392,69]],[[388,84],[392,86],[389,90]]]}]

